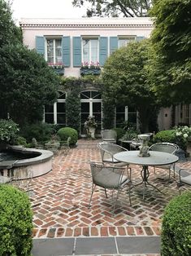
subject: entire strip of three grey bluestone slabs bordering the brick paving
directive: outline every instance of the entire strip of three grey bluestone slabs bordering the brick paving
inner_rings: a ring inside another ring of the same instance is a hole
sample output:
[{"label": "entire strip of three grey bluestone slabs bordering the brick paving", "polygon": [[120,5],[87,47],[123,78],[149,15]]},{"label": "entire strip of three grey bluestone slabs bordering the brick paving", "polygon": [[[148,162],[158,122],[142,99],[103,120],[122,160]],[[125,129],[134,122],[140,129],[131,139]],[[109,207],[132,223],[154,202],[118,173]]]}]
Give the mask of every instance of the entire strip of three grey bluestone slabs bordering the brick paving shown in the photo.
[{"label": "entire strip of three grey bluestone slabs bordering the brick paving", "polygon": [[159,236],[76,237],[33,240],[33,256],[159,254]]}]

